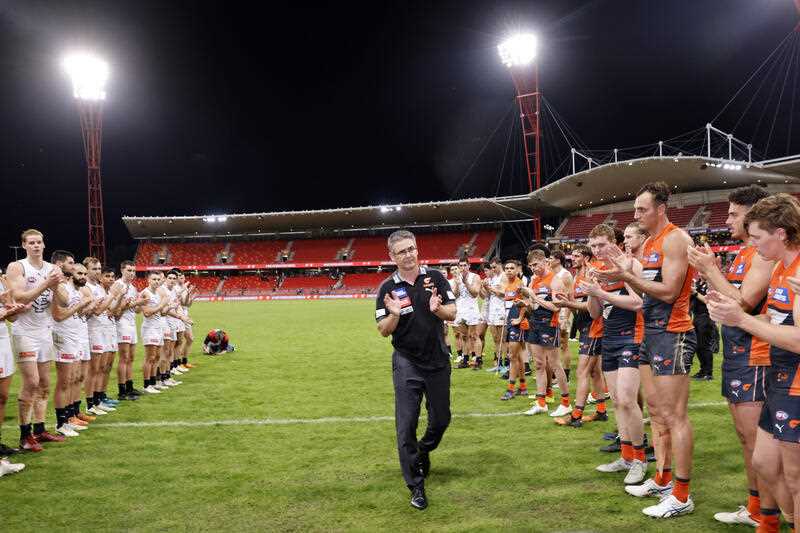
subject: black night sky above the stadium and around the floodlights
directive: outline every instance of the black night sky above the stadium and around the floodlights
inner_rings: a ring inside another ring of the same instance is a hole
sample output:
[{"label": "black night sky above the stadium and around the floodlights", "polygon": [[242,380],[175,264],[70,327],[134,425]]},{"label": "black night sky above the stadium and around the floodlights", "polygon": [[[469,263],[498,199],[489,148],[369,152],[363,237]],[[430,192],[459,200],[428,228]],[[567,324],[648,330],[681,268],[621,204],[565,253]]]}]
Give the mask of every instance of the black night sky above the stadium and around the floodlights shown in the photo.
[{"label": "black night sky above the stadium and around the floodlights", "polygon": [[[123,214],[527,192],[496,49],[512,30],[539,34],[542,91],[582,142],[613,148],[703,127],[798,21],[792,0],[310,4],[0,1],[0,262],[27,227],[50,250],[87,249],[68,49],[111,65],[102,175],[118,257],[133,242]],[[800,152],[789,64],[763,76],[784,107],[761,93],[735,132],[771,157]],[[752,94],[715,124],[730,130]],[[547,172],[568,146],[544,135]]]}]

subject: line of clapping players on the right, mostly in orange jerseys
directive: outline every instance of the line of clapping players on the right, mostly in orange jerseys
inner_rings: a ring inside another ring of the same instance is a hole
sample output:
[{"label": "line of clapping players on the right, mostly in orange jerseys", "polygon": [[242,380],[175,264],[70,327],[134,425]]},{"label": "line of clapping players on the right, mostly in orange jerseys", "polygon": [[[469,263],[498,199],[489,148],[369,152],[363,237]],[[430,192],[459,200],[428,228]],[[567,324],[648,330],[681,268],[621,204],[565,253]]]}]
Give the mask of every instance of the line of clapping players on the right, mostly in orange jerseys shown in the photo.
[{"label": "line of clapping players on the right, mostly in orange jerseys", "polygon": [[[772,532],[779,530],[782,514],[794,531],[794,516],[800,513],[800,328],[794,319],[800,313],[795,297],[800,294],[800,204],[787,194],[770,196],[759,186],[733,191],[726,223],[744,246],[723,271],[707,245],[695,246],[669,222],[669,193],[661,182],[637,193],[636,222],[625,229],[622,242],[610,226],[595,227],[589,246],[572,253],[571,288],[539,250],[528,255],[534,274],[529,283],[515,260],[505,262],[502,274],[494,262],[493,275],[482,286],[463,275],[462,265],[452,284],[468,305],[459,307],[455,326],[463,339],[464,326],[467,332],[473,328],[470,298],[481,292],[488,296],[486,322],[495,346],[505,344],[509,353],[503,399],[527,393],[523,359],[530,347],[537,395],[527,413],[537,414],[547,411],[544,394],[551,372],[561,381],[556,328],[560,311],[571,309],[580,331],[578,383],[570,416],[557,422],[580,427],[587,419],[582,412],[590,381],[595,391],[602,390],[600,367],[614,401],[622,449],[618,460],[597,469],[627,472],[628,494],[660,499],[643,512],[670,518],[694,510],[689,491],[694,439],[687,407],[696,337],[689,299],[693,278],[702,278],[710,287],[711,318],[723,326],[722,395],[741,442],[748,489],[747,505],[714,518]],[[498,333],[500,305],[507,313]],[[462,346],[479,354],[477,329],[467,337],[473,344]],[[647,479],[640,388],[656,455],[656,471]],[[568,405],[567,396],[562,406]]]}]

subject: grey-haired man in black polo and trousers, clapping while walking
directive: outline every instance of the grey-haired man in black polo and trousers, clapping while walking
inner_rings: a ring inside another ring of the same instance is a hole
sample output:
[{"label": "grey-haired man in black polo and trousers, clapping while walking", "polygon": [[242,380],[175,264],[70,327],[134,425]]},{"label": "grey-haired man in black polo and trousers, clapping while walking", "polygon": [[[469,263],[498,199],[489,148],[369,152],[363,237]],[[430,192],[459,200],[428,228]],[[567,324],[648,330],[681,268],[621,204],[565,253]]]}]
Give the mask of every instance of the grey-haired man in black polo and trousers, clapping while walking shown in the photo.
[{"label": "grey-haired man in black polo and trousers, clapping while walking", "polygon": [[[400,468],[411,490],[411,505],[425,509],[428,454],[439,445],[450,424],[450,352],[443,321],[455,319],[455,296],[438,270],[420,266],[413,233],[395,231],[388,245],[397,271],[378,290],[375,319],[381,335],[392,336],[394,347],[392,378]],[[417,441],[423,394],[428,427]]]}]

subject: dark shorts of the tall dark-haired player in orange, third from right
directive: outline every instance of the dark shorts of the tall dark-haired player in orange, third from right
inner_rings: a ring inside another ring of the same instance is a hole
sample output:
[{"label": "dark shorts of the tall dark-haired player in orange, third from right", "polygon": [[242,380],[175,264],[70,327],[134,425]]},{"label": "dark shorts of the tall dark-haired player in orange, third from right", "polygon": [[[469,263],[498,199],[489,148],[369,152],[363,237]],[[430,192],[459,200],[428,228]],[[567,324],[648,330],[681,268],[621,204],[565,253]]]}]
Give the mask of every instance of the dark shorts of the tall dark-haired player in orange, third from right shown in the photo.
[{"label": "dark shorts of the tall dark-haired player in orange, third from right", "polygon": [[639,361],[650,365],[654,376],[686,375],[692,369],[692,357],[697,348],[694,329],[682,333],[645,332],[639,348]]}]

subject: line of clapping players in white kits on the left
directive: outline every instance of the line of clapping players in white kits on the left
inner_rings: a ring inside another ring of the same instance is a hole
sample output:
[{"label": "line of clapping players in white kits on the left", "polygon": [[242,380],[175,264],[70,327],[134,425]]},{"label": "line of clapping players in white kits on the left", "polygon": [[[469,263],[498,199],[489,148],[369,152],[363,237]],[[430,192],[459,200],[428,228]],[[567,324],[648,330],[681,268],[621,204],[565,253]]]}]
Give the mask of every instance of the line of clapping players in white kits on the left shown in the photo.
[{"label": "line of clapping players in white kits on the left", "polygon": [[[41,452],[43,443],[77,437],[98,416],[117,410],[120,401],[142,394],[161,394],[181,384],[174,377],[192,368],[187,356],[194,339],[189,307],[197,295],[179,270],[166,276],[151,272],[147,287],[134,287],[132,261],[113,268],[94,257],[81,263],[64,250],[44,260],[44,237],[29,229],[22,233],[25,258],[9,264],[0,277],[0,425],[16,367],[19,448],[0,443],[0,476],[25,465],[6,458],[20,452]],[[141,337],[143,388],[133,386],[133,361],[139,336],[136,314],[143,315]],[[11,335],[6,326],[11,323]],[[116,354],[117,399],[107,394]],[[55,361],[53,404],[56,429],[47,431],[51,362]],[[86,410],[81,410],[81,389]]]}]

